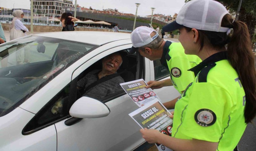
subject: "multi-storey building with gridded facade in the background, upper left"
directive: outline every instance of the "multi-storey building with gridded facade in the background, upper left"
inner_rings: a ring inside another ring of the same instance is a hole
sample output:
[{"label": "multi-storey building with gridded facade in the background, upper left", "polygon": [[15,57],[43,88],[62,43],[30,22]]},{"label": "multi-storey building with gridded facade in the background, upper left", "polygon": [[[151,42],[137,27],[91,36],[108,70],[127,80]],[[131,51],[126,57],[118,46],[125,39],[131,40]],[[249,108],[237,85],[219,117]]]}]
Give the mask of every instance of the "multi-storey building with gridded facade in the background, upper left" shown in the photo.
[{"label": "multi-storey building with gridded facade in the background, upper left", "polygon": [[33,0],[33,12],[41,16],[60,16],[62,7],[74,7],[73,0]]}]

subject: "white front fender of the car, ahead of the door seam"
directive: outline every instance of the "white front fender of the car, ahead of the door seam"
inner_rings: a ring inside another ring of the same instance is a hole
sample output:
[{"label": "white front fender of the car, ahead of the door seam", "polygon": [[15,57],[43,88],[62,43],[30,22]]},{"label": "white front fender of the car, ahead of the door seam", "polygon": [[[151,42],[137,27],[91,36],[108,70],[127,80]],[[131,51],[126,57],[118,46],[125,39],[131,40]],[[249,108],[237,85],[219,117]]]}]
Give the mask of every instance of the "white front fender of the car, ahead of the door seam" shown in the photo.
[{"label": "white front fender of the car, ahead of the door seam", "polygon": [[33,113],[16,108],[0,117],[0,151],[56,151],[57,134],[54,125],[30,135],[22,135],[25,125]]}]

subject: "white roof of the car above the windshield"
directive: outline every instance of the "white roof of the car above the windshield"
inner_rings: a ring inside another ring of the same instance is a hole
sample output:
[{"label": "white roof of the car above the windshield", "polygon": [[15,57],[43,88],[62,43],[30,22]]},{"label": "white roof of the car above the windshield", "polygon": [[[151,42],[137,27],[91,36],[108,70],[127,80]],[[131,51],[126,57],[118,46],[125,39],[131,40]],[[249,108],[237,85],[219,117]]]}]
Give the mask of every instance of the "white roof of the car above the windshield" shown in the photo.
[{"label": "white roof of the car above the windshield", "polygon": [[130,39],[129,33],[116,33],[116,32],[96,32],[96,31],[73,31],[73,32],[49,32],[39,33],[35,36],[43,36],[50,38],[65,39],[70,41],[88,43],[93,45],[103,45],[105,43]]}]

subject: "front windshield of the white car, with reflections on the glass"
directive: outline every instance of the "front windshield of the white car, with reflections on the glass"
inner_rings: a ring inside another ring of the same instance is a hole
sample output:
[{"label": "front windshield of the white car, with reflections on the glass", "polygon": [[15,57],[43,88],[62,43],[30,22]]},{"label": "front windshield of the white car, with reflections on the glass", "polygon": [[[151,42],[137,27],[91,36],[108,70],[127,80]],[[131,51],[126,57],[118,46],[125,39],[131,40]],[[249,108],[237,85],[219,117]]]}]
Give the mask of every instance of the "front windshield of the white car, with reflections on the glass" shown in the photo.
[{"label": "front windshield of the white car, with reflections on the glass", "polygon": [[98,46],[29,36],[0,46],[0,117]]}]

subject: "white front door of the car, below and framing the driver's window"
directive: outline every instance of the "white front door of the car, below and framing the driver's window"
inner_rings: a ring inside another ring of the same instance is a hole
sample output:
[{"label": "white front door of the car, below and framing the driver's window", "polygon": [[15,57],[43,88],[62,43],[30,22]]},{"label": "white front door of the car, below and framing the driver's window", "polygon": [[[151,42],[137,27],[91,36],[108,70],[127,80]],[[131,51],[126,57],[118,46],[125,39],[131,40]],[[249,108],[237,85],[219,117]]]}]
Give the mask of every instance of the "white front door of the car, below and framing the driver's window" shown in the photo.
[{"label": "white front door of the car, below and framing the driver's window", "polygon": [[[128,48],[131,48],[130,44],[115,47],[94,56],[74,71],[72,79],[97,60]],[[140,61],[146,64],[143,65],[142,69],[139,69],[138,65],[137,72],[141,72],[141,74],[137,74],[136,78],[145,77],[149,80],[149,60],[142,58]],[[142,71],[145,71],[143,75]],[[128,151],[145,141],[139,133],[140,127],[128,115],[138,106],[131,101],[125,92],[103,102],[110,109],[110,114],[106,117],[82,119],[70,126],[65,125],[65,120],[55,124],[58,136],[57,150]]]}]

